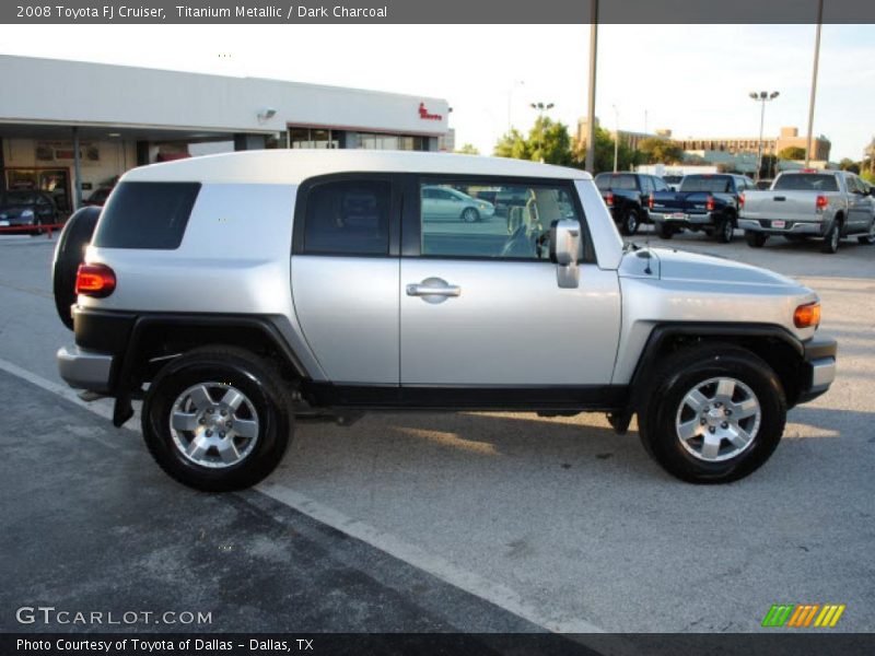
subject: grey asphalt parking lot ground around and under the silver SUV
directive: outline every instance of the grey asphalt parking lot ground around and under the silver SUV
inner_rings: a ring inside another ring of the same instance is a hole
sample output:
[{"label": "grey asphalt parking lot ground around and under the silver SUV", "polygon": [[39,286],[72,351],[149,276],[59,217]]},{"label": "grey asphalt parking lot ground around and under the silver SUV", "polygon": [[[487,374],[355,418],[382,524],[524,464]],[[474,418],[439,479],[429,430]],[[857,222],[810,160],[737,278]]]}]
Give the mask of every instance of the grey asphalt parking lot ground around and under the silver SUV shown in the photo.
[{"label": "grey asphalt parking lot ground around and under the silver SUV", "polygon": [[583,633],[756,632],[772,604],[845,604],[833,631],[875,631],[875,247],[633,241],[821,296],[838,379],[745,480],[678,482],[600,415],[411,413],[300,425],[257,490],[198,494],[136,422],[65,393],[54,243],[0,238],[0,631],[31,601],[212,611],[219,631]]}]

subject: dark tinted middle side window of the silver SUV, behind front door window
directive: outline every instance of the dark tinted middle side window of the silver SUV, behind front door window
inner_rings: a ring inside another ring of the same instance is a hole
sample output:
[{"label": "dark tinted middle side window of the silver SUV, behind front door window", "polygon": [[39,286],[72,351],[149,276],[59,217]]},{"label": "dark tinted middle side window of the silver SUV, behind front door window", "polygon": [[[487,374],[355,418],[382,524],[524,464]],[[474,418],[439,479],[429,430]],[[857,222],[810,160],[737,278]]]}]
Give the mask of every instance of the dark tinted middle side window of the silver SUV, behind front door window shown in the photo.
[{"label": "dark tinted middle side window of the silver SUV, behind front door window", "polygon": [[306,200],[304,253],[388,255],[390,201],[385,180],[316,185]]}]

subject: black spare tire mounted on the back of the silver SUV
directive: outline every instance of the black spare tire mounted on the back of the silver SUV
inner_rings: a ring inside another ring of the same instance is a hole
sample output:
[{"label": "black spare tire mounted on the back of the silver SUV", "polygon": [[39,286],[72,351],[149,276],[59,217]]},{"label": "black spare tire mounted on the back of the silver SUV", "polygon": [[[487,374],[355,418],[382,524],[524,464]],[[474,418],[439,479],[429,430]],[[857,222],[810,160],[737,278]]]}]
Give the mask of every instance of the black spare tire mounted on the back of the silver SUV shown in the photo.
[{"label": "black spare tire mounted on the back of the silver SUV", "polygon": [[67,220],[55,247],[51,262],[51,285],[55,308],[63,325],[73,329],[70,307],[75,303],[75,272],[85,259],[85,247],[94,234],[101,208],[81,208]]}]

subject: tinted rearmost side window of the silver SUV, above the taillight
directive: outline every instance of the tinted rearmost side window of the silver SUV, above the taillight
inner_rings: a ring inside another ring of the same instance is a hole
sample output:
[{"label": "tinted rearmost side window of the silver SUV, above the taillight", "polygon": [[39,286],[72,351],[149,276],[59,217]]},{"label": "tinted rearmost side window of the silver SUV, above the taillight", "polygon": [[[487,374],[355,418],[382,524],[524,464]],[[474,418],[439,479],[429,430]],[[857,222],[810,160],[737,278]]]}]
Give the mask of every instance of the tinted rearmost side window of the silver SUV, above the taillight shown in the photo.
[{"label": "tinted rearmost side window of the silver SUV, above the taillight", "polygon": [[101,248],[178,248],[199,191],[199,183],[121,183],[103,210],[93,244]]}]

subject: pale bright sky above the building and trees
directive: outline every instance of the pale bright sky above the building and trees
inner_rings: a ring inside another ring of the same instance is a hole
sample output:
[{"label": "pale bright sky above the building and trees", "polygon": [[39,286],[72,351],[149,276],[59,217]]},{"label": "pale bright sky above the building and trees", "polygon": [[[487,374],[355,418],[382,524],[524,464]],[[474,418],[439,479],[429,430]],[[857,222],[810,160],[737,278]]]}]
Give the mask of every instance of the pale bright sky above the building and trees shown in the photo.
[{"label": "pale bright sky above the building and trees", "polygon": [[[533,102],[576,130],[586,115],[588,25],[0,26],[0,52],[273,78],[445,97],[456,145],[489,154]],[[752,137],[750,91],[779,91],[766,136],[807,130],[814,25],[602,25],[602,125],[676,138]],[[615,114],[614,107],[617,113]],[[875,137],[875,25],[825,25],[815,134],[859,160]]]}]

